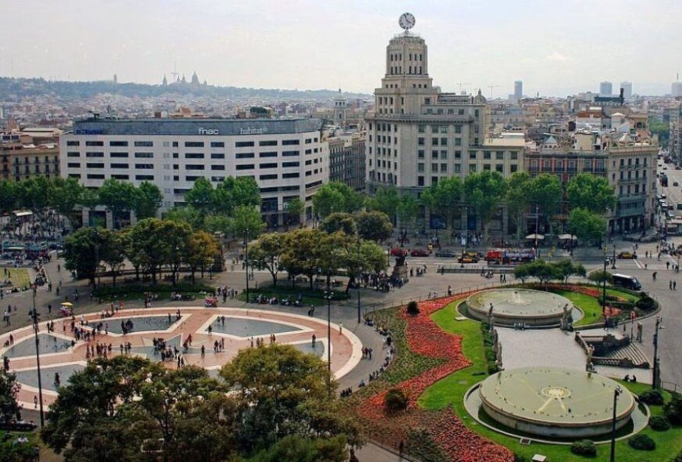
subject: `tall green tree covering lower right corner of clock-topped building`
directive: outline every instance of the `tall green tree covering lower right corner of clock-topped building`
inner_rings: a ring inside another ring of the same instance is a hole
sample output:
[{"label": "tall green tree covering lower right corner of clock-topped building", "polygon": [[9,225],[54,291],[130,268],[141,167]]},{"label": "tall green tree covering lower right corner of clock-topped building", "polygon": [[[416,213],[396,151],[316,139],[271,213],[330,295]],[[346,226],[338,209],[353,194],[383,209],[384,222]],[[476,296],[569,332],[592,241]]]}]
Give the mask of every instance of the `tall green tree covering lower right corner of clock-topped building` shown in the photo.
[{"label": "tall green tree covering lower right corner of clock-topped building", "polygon": [[464,179],[464,198],[481,217],[488,235],[488,222],[505,197],[505,180],[498,171],[481,171]]}]

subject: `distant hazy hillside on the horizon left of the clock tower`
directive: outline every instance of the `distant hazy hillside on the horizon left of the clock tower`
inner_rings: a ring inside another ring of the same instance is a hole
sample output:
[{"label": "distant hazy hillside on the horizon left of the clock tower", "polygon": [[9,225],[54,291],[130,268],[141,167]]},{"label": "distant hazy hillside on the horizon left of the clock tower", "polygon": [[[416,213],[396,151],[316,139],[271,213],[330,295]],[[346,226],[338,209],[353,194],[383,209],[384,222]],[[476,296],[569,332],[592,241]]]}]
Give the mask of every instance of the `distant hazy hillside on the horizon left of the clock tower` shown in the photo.
[{"label": "distant hazy hillside on the horizon left of the clock tower", "polygon": [[[192,84],[149,85],[115,84],[99,82],[49,82],[42,78],[0,77],[0,101],[16,97],[55,95],[62,98],[86,99],[101,93],[126,97],[158,97],[160,95],[213,96],[229,99],[301,100],[326,99],[338,95],[334,90],[280,90],[279,88],[239,88],[236,86],[213,86]],[[344,97],[371,98],[361,93],[343,93]]]}]

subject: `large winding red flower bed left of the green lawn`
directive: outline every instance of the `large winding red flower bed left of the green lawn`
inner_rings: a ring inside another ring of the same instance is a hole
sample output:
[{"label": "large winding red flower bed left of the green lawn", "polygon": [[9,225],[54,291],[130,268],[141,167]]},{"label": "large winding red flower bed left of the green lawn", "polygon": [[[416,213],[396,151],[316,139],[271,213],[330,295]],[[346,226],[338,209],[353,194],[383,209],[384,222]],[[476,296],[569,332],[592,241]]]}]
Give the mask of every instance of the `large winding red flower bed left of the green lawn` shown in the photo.
[{"label": "large winding red flower bed left of the green lawn", "polygon": [[513,461],[514,455],[511,451],[466,428],[452,410],[432,412],[416,406],[417,398],[428,386],[458,369],[471,365],[471,361],[462,354],[462,338],[444,332],[430,318],[433,312],[441,310],[462,295],[464,294],[421,302],[417,316],[400,310],[399,315],[406,321],[405,336],[409,348],[426,357],[445,359],[445,362],[396,386],[405,391],[410,400],[409,407],[404,413],[388,416],[384,406],[386,391],[382,391],[361,403],[360,414],[374,422],[391,420],[394,424],[392,426],[394,434],[390,435],[389,439],[392,442],[395,442],[396,438],[400,438],[397,440],[400,441],[409,431],[421,428],[428,431],[434,442],[451,460]]}]

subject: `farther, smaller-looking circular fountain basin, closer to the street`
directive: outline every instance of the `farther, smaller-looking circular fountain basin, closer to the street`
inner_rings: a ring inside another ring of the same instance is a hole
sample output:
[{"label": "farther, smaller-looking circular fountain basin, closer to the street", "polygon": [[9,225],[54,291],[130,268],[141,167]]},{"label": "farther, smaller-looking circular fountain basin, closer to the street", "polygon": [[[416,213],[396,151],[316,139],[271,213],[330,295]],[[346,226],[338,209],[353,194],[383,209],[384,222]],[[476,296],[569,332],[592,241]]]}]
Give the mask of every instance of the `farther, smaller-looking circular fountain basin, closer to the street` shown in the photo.
[{"label": "farther, smaller-looking circular fountain basin, closer to the street", "polygon": [[462,302],[462,313],[495,325],[527,327],[559,326],[562,320],[580,315],[566,297],[527,288],[494,288],[477,292]]}]

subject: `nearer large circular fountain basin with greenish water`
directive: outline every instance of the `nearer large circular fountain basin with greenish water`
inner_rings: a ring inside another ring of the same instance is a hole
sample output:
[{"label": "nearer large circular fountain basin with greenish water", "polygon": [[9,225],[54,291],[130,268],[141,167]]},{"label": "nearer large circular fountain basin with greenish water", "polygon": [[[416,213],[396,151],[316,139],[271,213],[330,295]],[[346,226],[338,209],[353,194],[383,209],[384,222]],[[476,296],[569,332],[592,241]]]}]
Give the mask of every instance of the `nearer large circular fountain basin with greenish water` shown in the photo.
[{"label": "nearer large circular fountain basin with greenish water", "polygon": [[[611,431],[617,382],[589,372],[559,367],[521,367],[481,382],[484,412],[510,431],[543,438],[587,438]],[[616,429],[630,422],[634,395],[621,389]]]}]

